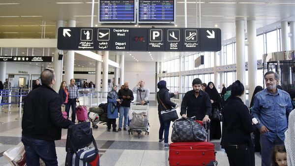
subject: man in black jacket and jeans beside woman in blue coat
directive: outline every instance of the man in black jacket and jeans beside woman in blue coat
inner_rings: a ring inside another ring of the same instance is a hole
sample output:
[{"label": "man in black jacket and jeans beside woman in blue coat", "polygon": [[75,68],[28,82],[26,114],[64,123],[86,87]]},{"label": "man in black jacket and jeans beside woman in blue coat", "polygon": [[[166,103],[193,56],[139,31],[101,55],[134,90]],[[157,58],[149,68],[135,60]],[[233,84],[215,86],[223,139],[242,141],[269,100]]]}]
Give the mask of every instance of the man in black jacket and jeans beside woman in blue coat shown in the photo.
[{"label": "man in black jacket and jeans beside woman in blue coat", "polygon": [[118,128],[118,131],[122,130],[123,117],[124,117],[124,130],[126,131],[130,103],[132,100],[134,100],[133,92],[129,89],[128,82],[124,83],[124,88],[119,90],[118,96],[119,96],[119,99],[121,99],[121,105],[119,108],[119,128]]}]

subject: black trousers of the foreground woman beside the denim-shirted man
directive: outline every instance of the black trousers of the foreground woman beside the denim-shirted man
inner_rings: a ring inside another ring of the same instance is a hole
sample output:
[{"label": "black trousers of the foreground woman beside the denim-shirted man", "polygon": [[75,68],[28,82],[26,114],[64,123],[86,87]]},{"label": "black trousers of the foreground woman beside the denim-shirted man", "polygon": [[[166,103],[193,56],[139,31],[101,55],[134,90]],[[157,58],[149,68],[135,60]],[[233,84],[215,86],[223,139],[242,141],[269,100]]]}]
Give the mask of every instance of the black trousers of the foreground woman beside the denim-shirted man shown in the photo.
[{"label": "black trousers of the foreground woman beside the denim-shirted man", "polygon": [[225,144],[230,166],[251,166],[251,151],[248,145]]}]

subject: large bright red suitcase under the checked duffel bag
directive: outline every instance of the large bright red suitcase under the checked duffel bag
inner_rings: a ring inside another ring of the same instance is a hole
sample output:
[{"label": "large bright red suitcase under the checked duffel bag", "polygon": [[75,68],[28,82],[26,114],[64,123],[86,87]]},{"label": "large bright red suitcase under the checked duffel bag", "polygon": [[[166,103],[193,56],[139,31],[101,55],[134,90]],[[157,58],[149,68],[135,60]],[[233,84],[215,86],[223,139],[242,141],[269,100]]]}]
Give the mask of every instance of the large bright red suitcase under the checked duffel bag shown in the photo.
[{"label": "large bright red suitcase under the checked duffel bag", "polygon": [[214,144],[210,142],[171,143],[169,166],[217,166]]}]

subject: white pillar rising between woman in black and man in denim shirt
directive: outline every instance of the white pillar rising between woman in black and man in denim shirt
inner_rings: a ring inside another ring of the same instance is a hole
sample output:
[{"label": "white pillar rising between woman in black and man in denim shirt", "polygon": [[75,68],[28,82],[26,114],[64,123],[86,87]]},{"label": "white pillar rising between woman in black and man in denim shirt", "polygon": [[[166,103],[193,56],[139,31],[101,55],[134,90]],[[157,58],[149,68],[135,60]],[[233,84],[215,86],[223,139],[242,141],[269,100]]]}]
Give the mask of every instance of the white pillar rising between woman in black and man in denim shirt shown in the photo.
[{"label": "white pillar rising between woman in black and man in denim shirt", "polygon": [[248,85],[249,85],[249,105],[255,87],[257,86],[257,58],[256,58],[256,21],[247,21],[248,33]]}]

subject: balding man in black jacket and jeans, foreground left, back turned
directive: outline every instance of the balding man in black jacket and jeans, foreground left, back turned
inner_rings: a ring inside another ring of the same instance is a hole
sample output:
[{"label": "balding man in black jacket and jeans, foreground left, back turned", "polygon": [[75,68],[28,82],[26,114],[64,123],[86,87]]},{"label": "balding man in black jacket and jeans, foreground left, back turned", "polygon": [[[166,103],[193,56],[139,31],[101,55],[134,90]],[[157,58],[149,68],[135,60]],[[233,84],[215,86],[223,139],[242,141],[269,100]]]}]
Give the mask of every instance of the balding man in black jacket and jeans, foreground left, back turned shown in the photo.
[{"label": "balding man in black jacket and jeans, foreground left, back turned", "polygon": [[61,128],[73,123],[61,114],[59,94],[52,87],[55,73],[46,69],[41,73],[43,85],[32,90],[25,100],[22,121],[22,142],[28,166],[39,166],[41,158],[46,166],[58,166],[55,140],[61,138]]}]

